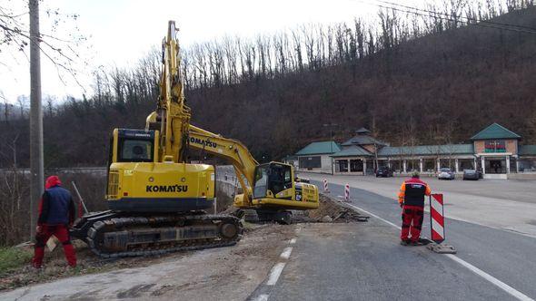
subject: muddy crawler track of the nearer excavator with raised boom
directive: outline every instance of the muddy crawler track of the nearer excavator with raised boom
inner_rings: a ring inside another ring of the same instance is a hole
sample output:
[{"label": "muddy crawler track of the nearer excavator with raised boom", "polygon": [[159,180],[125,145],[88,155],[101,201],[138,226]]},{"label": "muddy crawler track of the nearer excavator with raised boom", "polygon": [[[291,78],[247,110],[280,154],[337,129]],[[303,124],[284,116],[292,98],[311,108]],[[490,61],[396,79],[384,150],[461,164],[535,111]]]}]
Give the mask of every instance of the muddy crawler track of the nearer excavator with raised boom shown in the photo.
[{"label": "muddy crawler track of the nearer excavator with raised boom", "polygon": [[84,240],[100,257],[137,257],[233,246],[242,233],[240,220],[226,215],[133,217],[113,212],[94,221]]}]

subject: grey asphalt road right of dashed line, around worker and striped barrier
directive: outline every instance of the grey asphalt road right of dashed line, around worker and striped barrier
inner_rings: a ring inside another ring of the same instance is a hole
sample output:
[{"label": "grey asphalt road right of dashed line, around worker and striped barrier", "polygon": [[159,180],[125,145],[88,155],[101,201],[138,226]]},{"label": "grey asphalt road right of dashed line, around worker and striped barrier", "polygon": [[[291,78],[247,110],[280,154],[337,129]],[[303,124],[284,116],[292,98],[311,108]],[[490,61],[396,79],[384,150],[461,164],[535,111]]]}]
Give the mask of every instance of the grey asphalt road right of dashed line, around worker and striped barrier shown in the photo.
[{"label": "grey asphalt road right of dashed line, around worker and striped barrier", "polygon": [[[333,196],[343,195],[341,185],[330,187]],[[351,189],[351,197],[352,205],[400,226],[394,199],[363,189]],[[430,218],[424,220],[423,234],[429,236]],[[399,230],[379,218],[322,227],[328,226],[303,228],[270,300],[536,298],[535,238],[447,218],[445,243],[458,251],[449,257],[400,246]]]}]

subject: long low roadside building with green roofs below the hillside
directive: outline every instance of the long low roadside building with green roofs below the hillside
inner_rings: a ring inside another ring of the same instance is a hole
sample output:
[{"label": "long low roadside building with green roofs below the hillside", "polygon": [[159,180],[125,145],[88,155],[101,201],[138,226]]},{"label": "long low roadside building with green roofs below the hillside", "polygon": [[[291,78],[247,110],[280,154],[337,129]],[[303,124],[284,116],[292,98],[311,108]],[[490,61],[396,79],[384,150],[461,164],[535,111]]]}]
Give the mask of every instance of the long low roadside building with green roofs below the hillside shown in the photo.
[{"label": "long low roadside building with green roofs below the hillside", "polygon": [[337,146],[338,151],[323,149],[320,155],[323,159],[314,161],[317,168],[308,165],[311,161],[306,156],[298,161],[298,170],[323,173],[333,170],[333,174],[372,175],[377,167],[385,166],[398,174],[415,170],[434,175],[442,168],[449,168],[460,174],[463,170],[481,170],[484,177],[490,179],[536,178],[536,145],[521,145],[520,142],[520,135],[497,123],[472,136],[471,143],[402,147],[378,141],[362,128],[340,145],[333,141],[313,142],[296,156],[300,158],[300,153],[321,145],[331,145],[330,150]]}]

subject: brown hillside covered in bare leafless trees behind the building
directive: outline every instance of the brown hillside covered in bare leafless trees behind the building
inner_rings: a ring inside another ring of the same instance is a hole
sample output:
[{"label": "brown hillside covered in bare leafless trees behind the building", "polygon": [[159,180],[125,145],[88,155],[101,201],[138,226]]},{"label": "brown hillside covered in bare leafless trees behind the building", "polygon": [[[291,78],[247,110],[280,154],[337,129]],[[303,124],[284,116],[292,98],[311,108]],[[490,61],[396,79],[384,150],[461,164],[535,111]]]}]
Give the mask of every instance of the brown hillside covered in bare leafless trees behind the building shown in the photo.
[{"label": "brown hillside covered in bare leafless trees behind the building", "polygon": [[[193,123],[243,141],[265,160],[329,139],[326,123],[337,124],[339,141],[365,126],[409,145],[467,141],[499,122],[536,143],[536,8],[455,3],[424,15],[382,8],[377,24],[303,25],[189,47]],[[95,72],[83,100],[45,103],[45,165],[104,165],[114,127],[143,128],[158,95],[159,55]],[[3,109],[0,165],[16,157],[27,166],[27,115]]]}]

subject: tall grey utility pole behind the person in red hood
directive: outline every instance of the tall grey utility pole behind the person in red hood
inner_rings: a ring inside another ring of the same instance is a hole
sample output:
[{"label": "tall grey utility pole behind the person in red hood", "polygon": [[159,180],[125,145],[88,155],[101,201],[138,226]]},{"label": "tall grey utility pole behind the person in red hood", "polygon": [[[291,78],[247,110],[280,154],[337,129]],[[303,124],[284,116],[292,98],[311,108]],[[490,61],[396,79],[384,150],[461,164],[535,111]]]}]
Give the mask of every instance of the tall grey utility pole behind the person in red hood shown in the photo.
[{"label": "tall grey utility pole behind the person in red hood", "polygon": [[30,238],[35,237],[37,200],[43,194],[43,109],[41,107],[41,48],[39,42],[39,0],[30,8]]}]

